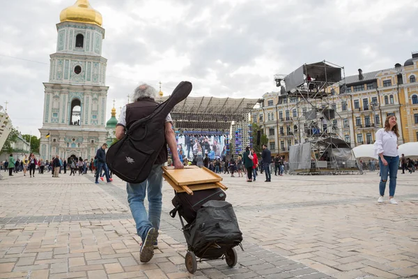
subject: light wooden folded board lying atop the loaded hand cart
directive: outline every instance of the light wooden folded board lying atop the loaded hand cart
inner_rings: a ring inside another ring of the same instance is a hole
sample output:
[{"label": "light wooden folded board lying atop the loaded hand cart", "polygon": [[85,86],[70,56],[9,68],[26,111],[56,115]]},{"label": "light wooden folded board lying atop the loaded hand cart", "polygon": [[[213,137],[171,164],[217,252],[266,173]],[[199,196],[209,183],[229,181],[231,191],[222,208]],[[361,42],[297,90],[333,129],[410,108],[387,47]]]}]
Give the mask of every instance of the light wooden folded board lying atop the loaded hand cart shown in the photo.
[{"label": "light wooden folded board lying atop the loaded hand cart", "polygon": [[210,171],[206,167],[189,166],[184,169],[174,167],[162,167],[164,174],[178,186],[191,186],[194,184],[216,183],[222,181],[222,177]]}]

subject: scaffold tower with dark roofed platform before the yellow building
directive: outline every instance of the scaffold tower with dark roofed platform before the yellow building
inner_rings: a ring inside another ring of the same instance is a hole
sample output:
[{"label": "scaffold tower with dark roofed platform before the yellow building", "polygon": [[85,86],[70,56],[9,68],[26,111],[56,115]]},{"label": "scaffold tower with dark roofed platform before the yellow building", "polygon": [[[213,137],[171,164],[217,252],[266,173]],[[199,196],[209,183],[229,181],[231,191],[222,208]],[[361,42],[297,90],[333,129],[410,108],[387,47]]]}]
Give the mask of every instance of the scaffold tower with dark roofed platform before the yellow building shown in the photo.
[{"label": "scaffold tower with dark roofed platform before the yellow building", "polygon": [[[343,140],[339,112],[346,95],[344,68],[327,61],[304,64],[289,75],[275,75],[279,103],[287,102],[287,133],[297,137],[291,146],[291,174],[353,174],[359,172],[349,142]],[[339,88],[336,93],[335,88]],[[289,126],[291,125],[291,126]],[[292,127],[293,126],[293,127]]]}]

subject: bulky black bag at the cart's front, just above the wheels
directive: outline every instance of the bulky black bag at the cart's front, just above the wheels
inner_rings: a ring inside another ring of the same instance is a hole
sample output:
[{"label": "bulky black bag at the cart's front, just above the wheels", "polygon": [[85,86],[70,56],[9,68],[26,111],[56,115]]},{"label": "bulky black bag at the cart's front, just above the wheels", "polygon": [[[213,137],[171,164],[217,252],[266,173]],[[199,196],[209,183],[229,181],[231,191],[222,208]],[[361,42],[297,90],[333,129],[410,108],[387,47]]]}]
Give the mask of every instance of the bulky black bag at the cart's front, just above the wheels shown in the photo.
[{"label": "bulky black bag at the cart's front, just above the wheels", "polygon": [[195,254],[203,257],[210,256],[205,250],[214,246],[219,247],[217,250],[221,255],[226,250],[238,246],[242,241],[242,232],[232,204],[215,200],[203,204],[197,211],[190,236],[190,244]]}]

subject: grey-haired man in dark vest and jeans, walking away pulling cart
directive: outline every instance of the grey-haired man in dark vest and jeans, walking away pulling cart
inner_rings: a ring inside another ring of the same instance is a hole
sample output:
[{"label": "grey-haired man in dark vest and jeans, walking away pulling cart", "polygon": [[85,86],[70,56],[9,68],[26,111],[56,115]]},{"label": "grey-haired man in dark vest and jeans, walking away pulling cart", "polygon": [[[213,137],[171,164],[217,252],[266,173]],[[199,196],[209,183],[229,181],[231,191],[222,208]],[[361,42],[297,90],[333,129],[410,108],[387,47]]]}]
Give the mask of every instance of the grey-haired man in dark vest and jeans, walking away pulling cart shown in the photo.
[{"label": "grey-haired man in dark vest and jeans, walking away pulling cart", "polygon": [[[121,111],[119,122],[116,126],[116,138],[121,140],[125,131],[129,130],[132,123],[144,119],[155,110],[158,103],[155,102],[157,91],[148,84],[141,84],[134,90],[134,103],[127,104]],[[164,126],[164,137],[171,150],[173,164],[176,169],[183,169],[177,152],[176,134],[172,128],[171,114],[168,114]],[[149,262],[154,255],[154,247],[157,246],[158,229],[162,211],[162,166],[168,159],[167,144],[164,144],[157,160],[148,174],[147,179],[141,183],[127,183],[127,200],[130,205],[132,217],[137,225],[137,234],[142,239],[139,259],[141,262]],[[104,151],[103,151],[104,153]],[[99,153],[98,153],[99,154]],[[99,164],[100,158],[98,156]],[[100,172],[100,165],[99,165]],[[98,174],[96,173],[96,177]],[[97,181],[97,179],[96,179]],[[144,207],[144,199],[148,195],[148,214]]]}]

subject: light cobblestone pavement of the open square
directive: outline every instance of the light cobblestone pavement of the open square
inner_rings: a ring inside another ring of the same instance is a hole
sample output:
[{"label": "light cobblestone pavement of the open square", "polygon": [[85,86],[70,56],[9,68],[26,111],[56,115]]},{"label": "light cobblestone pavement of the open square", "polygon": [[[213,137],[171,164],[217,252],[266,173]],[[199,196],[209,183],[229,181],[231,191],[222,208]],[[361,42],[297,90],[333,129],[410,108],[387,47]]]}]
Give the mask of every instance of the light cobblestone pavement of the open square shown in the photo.
[{"label": "light cobblestone pavement of the open square", "polygon": [[376,173],[223,176],[245,251],[233,269],[201,262],[194,275],[167,183],[159,249],[141,264],[123,181],[4,176],[0,278],[418,278],[418,172],[398,174],[398,205],[376,202]]}]

